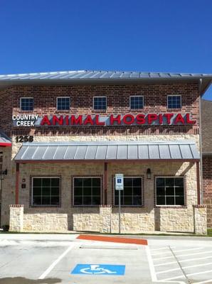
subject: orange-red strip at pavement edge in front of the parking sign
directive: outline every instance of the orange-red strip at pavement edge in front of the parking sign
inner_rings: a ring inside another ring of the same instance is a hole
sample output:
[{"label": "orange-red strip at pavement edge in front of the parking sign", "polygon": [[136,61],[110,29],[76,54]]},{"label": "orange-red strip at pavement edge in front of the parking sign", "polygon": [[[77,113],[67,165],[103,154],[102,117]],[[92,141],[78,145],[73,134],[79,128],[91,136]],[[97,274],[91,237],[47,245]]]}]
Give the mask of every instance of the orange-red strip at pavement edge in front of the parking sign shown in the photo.
[{"label": "orange-red strip at pavement edge in front of the parking sign", "polygon": [[144,246],[148,245],[148,241],[146,239],[129,239],[114,236],[79,235],[76,239],[84,239],[88,241],[110,241],[112,243],[122,244],[141,244]]}]

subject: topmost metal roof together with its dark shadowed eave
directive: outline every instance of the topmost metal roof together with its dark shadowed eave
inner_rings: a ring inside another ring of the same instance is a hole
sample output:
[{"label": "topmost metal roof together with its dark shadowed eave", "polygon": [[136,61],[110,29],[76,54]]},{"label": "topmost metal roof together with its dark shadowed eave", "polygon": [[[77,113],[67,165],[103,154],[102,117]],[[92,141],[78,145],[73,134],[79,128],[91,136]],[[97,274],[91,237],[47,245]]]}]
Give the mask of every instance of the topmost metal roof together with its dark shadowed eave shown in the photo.
[{"label": "topmost metal roof together with its dark shadowed eave", "polygon": [[203,94],[211,84],[212,74],[203,73],[169,73],[169,72],[135,72],[135,71],[60,71],[25,74],[0,75],[0,88],[12,84],[126,84],[126,82],[158,82],[202,80],[200,92]]}]

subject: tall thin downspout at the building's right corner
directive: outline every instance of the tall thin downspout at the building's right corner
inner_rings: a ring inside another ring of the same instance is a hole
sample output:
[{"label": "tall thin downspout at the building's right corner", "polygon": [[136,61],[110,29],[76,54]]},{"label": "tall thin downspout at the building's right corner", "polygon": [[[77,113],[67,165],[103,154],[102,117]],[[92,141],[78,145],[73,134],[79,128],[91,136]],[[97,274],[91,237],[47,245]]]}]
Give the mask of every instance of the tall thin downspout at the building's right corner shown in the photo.
[{"label": "tall thin downspout at the building's right corner", "polygon": [[201,125],[201,87],[203,84],[203,80],[199,80],[198,90],[199,90],[199,151],[200,151],[200,194],[201,200],[200,204],[203,204],[203,144],[202,144],[202,125]]}]

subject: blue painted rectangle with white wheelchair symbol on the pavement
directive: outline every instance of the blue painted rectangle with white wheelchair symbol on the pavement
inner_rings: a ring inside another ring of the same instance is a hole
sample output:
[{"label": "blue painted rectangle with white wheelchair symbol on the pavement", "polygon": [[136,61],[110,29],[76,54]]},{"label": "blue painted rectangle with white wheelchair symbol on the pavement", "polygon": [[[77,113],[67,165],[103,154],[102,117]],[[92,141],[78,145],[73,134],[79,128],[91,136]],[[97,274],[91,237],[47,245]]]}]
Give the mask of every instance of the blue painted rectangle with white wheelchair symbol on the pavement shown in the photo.
[{"label": "blue painted rectangle with white wheelchair symbol on the pavement", "polygon": [[113,264],[78,264],[70,274],[124,275],[125,266]]}]

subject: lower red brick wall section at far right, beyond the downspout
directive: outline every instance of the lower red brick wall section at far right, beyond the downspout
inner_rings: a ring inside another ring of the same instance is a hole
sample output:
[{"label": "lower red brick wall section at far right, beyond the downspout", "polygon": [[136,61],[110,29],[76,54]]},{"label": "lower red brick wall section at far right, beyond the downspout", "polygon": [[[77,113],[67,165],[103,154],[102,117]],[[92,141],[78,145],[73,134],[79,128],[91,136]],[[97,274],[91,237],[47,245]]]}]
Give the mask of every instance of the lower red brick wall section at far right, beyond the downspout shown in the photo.
[{"label": "lower red brick wall section at far right, beyond the downspout", "polygon": [[208,228],[212,228],[212,156],[203,157],[203,203],[207,205]]}]

